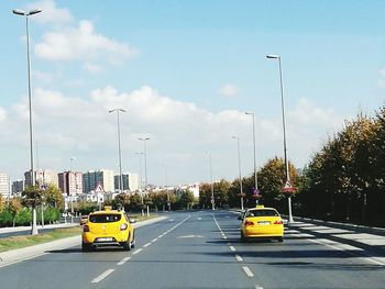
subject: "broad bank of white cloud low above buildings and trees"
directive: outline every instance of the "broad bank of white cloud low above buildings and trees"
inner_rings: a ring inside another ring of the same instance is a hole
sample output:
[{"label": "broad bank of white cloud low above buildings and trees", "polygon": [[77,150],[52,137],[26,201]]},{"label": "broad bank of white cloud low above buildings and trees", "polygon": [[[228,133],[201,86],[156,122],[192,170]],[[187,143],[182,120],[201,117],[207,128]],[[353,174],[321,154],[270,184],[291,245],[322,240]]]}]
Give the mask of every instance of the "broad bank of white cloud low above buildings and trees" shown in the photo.
[{"label": "broad bank of white cloud low above buildings and trees", "polygon": [[[13,108],[16,113],[9,113],[0,133],[12,135],[11,132],[16,131],[12,141],[28,146],[28,101]],[[120,115],[124,170],[138,171],[135,152],[143,149],[138,137],[150,136],[151,182],[162,182],[161,163],[167,163],[175,182],[205,180],[209,174],[202,168],[208,166],[205,163],[207,151],[212,152],[216,179],[235,178],[237,142],[231,136],[238,135],[244,175],[252,171],[250,115],[237,110],[212,113],[194,103],[161,96],[147,86],[131,92],[120,92],[108,86],[92,90],[86,99],[35,89],[34,135],[43,146],[40,149],[44,152],[41,166],[61,170],[68,166],[70,156],[76,156],[77,168],[82,171],[100,167],[117,169],[117,119],[108,113],[113,108],[127,109],[127,113]],[[282,120],[279,116],[256,119],[255,124],[257,162],[262,166],[267,158],[283,155]],[[340,118],[331,110],[320,109],[306,99],[299,100],[287,113],[289,159],[302,166],[326,140],[327,127],[338,124]],[[4,149],[12,152],[15,148]],[[28,152],[26,147],[24,149]]]}]

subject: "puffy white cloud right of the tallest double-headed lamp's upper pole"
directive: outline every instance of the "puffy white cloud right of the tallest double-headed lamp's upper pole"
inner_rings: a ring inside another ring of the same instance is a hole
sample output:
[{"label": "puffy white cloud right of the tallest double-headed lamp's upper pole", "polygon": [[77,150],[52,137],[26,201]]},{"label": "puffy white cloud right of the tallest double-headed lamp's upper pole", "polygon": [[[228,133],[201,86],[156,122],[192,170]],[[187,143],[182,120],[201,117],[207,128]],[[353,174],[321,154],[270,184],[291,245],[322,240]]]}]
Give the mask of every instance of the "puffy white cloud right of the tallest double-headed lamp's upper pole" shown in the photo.
[{"label": "puffy white cloud right of the tallest double-headed lamp's upper pole", "polygon": [[106,58],[109,64],[116,65],[136,56],[138,51],[96,33],[92,23],[82,20],[78,27],[61,29],[44,34],[43,42],[35,45],[35,54],[55,62]]}]

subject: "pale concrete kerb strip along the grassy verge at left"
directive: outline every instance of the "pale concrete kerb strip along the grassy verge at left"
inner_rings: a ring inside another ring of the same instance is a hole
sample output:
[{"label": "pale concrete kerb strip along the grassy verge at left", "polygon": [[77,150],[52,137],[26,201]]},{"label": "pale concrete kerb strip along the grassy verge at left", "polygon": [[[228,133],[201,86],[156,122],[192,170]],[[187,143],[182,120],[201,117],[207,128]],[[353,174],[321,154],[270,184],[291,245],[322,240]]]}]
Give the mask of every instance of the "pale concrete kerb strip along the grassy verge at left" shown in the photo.
[{"label": "pale concrete kerb strip along the grassy verge at left", "polygon": [[[167,219],[167,216],[158,216],[152,220],[146,220],[143,222],[138,222],[134,224],[135,229],[150,225],[160,221],[163,221]],[[68,223],[66,224],[68,225]],[[78,225],[78,224],[72,224],[72,225]],[[69,226],[69,225],[68,225]],[[29,230],[31,227],[28,227]],[[62,240],[56,240],[53,242],[40,244],[40,245],[34,245],[25,248],[19,248],[19,249],[13,249],[13,251],[8,251],[8,252],[2,252],[0,253],[0,268],[4,266],[9,266],[14,263],[19,263],[25,259],[31,259],[35,258],[38,256],[42,256],[44,254],[48,254],[50,251],[58,251],[58,249],[66,249],[69,247],[74,246],[79,246],[81,244],[81,236],[72,236],[72,237],[66,237]]]}]

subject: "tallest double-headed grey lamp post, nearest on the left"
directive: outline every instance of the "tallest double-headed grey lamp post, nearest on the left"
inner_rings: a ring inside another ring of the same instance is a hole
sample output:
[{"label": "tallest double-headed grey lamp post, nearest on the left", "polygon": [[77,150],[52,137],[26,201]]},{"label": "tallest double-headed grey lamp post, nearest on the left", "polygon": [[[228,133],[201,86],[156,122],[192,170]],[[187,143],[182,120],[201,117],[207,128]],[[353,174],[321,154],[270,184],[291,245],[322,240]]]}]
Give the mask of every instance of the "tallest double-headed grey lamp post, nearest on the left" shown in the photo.
[{"label": "tallest double-headed grey lamp post, nearest on the left", "polygon": [[[29,90],[29,108],[30,108],[30,158],[31,158],[31,185],[35,186],[35,175],[33,168],[33,134],[32,134],[32,89],[31,89],[31,57],[30,57],[30,30],[29,30],[29,16],[42,12],[41,9],[33,9],[30,11],[23,11],[13,9],[12,12],[16,15],[25,16],[25,31],[26,31],[26,70],[28,70],[28,90]],[[32,208],[32,227],[31,235],[38,234],[36,224],[36,208]]]}]

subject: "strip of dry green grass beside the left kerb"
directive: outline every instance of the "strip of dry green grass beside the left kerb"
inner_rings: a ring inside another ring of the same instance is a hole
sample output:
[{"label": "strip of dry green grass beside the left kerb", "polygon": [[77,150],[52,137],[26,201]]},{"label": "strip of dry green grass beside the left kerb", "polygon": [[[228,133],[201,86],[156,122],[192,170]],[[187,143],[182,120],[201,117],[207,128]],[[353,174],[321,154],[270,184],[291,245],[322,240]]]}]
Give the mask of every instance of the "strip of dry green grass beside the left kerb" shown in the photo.
[{"label": "strip of dry green grass beside the left kerb", "polygon": [[[145,220],[151,220],[157,218],[157,215],[132,215],[136,222],[142,222]],[[52,242],[59,238],[70,237],[80,235],[82,232],[82,226],[73,227],[62,227],[53,229],[50,232],[41,233],[37,235],[20,235],[0,238],[0,252],[7,252],[16,248],[29,247],[33,245],[38,245],[47,242]]]}]

